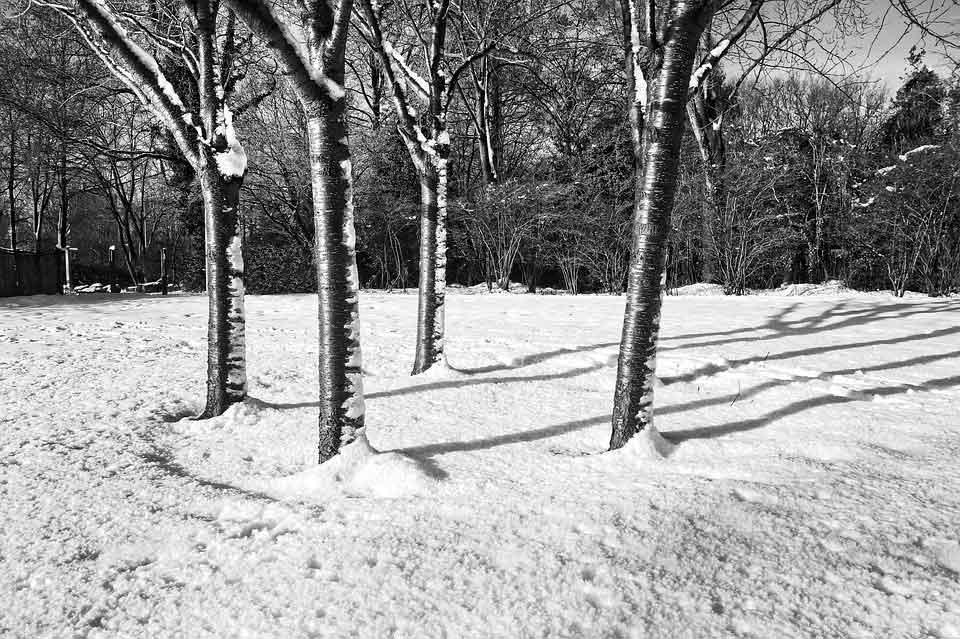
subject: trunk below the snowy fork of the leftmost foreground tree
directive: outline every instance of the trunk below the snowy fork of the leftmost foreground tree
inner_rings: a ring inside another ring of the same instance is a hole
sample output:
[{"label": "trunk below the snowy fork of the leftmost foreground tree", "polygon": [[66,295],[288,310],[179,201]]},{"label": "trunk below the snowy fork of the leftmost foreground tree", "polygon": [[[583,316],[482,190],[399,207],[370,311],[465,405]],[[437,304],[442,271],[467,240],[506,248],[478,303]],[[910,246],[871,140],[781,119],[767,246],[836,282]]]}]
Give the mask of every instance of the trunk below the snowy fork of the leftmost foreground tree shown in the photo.
[{"label": "trunk below the snowy fork of the leftmost foreground tree", "polygon": [[216,417],[247,395],[243,308],[243,241],[239,204],[242,177],[224,179],[207,153],[200,171],[207,265],[207,404],[200,418]]}]

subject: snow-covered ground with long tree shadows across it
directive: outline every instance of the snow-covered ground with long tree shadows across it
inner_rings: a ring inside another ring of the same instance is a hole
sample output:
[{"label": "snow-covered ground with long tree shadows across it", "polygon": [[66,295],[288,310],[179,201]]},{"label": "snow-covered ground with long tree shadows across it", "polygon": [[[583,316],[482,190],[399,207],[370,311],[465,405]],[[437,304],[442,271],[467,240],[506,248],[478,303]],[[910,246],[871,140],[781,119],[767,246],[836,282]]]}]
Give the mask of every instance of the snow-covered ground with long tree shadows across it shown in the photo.
[{"label": "snow-covered ground with long tree shadows across it", "polygon": [[0,300],[0,636],[960,638],[960,300],[669,297],[666,458],[602,452],[622,309],[450,295],[421,379],[365,293],[318,471],[313,297],[208,422],[204,298]]}]

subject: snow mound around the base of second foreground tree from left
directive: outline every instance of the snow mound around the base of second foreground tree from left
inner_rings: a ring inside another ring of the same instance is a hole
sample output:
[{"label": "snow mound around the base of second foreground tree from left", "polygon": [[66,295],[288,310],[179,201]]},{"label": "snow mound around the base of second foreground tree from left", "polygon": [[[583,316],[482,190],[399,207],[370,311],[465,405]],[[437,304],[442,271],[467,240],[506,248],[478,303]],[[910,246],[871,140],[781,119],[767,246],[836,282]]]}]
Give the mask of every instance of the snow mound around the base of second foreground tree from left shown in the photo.
[{"label": "snow mound around the base of second foreground tree from left", "polygon": [[370,445],[366,433],[361,433],[333,459],[272,480],[265,492],[281,499],[337,495],[396,499],[423,494],[435,484],[436,479],[420,462],[400,453],[381,453]]}]

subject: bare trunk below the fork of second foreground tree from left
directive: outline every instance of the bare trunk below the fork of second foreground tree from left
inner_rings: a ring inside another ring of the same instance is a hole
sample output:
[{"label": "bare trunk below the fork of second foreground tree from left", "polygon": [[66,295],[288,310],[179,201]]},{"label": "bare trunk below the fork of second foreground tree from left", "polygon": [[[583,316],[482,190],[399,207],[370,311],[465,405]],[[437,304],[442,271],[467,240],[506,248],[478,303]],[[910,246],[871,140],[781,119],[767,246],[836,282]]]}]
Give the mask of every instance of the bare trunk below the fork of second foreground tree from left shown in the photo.
[{"label": "bare trunk below the fork of second foreground tree from left", "polygon": [[364,424],[353,182],[343,100],[315,104],[307,119],[316,231],[320,337],[320,463]]}]

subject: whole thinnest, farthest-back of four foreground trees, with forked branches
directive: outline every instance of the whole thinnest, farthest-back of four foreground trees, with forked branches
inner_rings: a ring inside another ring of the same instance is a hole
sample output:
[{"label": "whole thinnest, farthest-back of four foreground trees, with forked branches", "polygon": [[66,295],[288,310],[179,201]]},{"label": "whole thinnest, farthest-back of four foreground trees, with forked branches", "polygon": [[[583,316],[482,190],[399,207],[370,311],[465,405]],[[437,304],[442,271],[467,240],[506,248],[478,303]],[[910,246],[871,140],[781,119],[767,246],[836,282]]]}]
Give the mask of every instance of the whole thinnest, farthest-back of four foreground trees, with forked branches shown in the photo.
[{"label": "whole thinnest, farthest-back of four foreground trees, with forked branches", "polygon": [[[420,282],[418,287],[417,343],[413,375],[434,365],[445,364],[444,302],[447,283],[447,170],[450,163],[450,133],[447,113],[453,89],[470,65],[493,48],[492,43],[463,56],[455,67],[447,51],[450,0],[424,2],[429,17],[430,37],[419,31],[427,75],[417,73],[403,54],[386,39],[379,7],[373,0],[360,0],[366,17],[371,48],[380,59],[383,73],[393,92],[397,129],[420,177]],[[426,103],[426,116],[418,118],[408,94]]]}]

